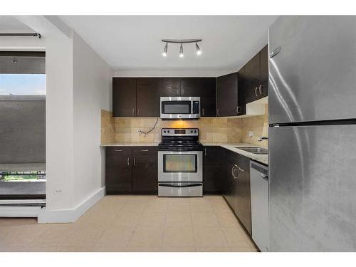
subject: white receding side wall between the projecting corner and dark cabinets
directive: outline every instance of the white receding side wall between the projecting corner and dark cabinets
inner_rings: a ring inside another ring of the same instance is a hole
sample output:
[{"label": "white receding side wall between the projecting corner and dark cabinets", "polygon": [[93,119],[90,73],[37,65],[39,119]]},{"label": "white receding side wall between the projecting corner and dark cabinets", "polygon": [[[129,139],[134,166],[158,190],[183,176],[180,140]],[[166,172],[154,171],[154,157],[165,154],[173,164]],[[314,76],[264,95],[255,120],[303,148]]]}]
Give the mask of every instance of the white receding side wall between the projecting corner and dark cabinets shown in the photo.
[{"label": "white receding side wall between the projecting corner and dark cabinets", "polygon": [[110,110],[112,69],[73,33],[73,71],[73,197],[80,204],[103,187],[100,108]]}]

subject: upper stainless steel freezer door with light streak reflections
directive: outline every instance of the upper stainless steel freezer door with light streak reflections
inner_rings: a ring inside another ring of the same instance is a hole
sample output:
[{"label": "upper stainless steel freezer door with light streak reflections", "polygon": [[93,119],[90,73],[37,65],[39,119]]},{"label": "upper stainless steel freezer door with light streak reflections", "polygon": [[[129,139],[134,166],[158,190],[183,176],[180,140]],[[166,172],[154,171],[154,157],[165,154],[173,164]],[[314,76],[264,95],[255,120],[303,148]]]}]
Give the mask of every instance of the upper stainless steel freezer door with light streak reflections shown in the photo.
[{"label": "upper stainless steel freezer door with light streak reflections", "polygon": [[281,16],[268,39],[269,123],[356,118],[356,16]]}]

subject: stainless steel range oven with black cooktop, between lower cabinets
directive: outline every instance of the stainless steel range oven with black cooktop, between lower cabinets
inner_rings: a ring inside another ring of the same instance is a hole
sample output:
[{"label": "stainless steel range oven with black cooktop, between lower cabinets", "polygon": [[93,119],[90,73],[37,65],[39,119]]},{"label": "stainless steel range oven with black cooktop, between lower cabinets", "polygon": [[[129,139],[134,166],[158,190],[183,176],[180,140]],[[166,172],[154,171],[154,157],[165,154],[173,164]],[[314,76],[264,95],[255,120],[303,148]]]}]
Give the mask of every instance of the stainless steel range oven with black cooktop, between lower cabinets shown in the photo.
[{"label": "stainless steel range oven with black cooktop, between lower cabinets", "polygon": [[158,196],[203,195],[203,146],[199,130],[162,129],[158,145]]}]

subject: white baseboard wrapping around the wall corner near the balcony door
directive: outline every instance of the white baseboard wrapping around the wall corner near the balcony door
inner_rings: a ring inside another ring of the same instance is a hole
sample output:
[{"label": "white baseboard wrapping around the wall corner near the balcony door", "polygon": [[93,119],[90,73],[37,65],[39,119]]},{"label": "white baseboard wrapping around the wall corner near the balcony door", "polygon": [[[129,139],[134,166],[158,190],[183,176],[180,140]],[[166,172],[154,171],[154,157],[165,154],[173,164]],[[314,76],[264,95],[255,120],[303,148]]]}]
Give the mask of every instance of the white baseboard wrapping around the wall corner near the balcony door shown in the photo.
[{"label": "white baseboard wrapping around the wall corner near the balcony door", "polygon": [[105,187],[100,188],[97,192],[92,194],[88,199],[76,206],[74,209],[57,209],[47,210],[41,209],[38,212],[38,223],[70,223],[78,220],[80,216],[85,214],[91,206],[105,196]]}]

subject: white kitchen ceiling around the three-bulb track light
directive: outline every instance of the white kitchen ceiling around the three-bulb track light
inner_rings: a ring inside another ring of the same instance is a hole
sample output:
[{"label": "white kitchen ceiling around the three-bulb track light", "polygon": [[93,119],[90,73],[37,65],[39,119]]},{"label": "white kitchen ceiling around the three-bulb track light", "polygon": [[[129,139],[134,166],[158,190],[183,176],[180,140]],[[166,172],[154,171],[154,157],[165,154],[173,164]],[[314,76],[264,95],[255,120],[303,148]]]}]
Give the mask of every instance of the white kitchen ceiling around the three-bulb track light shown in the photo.
[{"label": "white kitchen ceiling around the three-bulb track light", "polygon": [[[60,16],[115,70],[231,70],[243,66],[267,43],[277,16]],[[169,44],[162,38],[202,38]]]}]

